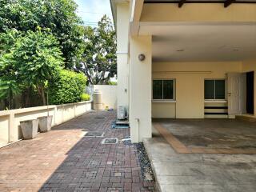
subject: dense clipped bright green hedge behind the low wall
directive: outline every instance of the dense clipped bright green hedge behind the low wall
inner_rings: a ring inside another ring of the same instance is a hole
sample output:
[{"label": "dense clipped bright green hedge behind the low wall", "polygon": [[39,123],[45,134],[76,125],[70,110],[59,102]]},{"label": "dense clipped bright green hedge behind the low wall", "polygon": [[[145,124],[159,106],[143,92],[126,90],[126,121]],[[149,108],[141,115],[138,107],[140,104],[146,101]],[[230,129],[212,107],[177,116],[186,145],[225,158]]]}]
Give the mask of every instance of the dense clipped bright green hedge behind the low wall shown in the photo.
[{"label": "dense clipped bright green hedge behind the low wall", "polygon": [[81,102],[85,87],[84,74],[62,70],[57,78],[49,82],[49,102],[54,105]]}]

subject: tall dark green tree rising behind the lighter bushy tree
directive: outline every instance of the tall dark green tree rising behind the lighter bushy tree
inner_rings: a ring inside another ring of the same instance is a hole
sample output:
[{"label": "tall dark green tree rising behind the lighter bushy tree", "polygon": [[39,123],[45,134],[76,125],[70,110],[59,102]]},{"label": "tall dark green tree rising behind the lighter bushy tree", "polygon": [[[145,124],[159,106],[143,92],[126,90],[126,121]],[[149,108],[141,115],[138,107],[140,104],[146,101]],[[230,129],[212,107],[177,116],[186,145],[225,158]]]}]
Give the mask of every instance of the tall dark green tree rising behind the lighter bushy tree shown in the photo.
[{"label": "tall dark green tree rising behind the lighter bushy tree", "polygon": [[0,5],[0,33],[48,28],[60,42],[66,68],[79,61],[83,29],[73,0],[0,0]]}]

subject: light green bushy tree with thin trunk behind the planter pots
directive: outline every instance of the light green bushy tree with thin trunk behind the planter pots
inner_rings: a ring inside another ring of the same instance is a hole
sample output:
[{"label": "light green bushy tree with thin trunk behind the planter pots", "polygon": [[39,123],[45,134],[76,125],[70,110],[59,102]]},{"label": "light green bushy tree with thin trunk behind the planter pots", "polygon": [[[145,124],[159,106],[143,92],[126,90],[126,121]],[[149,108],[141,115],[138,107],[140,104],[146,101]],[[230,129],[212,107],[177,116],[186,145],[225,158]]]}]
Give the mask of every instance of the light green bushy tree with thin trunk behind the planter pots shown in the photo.
[{"label": "light green bushy tree with thin trunk behind the planter pots", "polygon": [[[12,42],[9,51],[0,56],[0,74],[2,81],[6,77],[12,82],[34,86],[46,105],[46,84],[50,78],[58,75],[63,66],[62,52],[58,41],[52,34],[39,28],[36,32],[15,34],[11,30],[0,35],[0,42]],[[11,40],[10,40],[11,39]]]}]

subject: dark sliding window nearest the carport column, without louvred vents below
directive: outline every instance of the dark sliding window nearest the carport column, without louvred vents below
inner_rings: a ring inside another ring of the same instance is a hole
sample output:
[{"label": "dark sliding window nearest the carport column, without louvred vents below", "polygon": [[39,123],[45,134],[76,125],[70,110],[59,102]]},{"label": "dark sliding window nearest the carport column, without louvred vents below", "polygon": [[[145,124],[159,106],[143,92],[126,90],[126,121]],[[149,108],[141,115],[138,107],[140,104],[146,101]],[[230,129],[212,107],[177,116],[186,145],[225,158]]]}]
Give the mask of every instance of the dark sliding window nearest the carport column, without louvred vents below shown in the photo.
[{"label": "dark sliding window nearest the carport column, without louvred vents below", "polygon": [[153,99],[174,100],[174,79],[154,79]]}]

